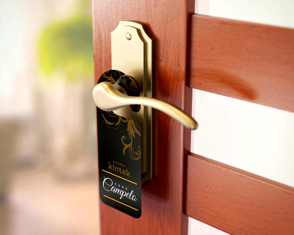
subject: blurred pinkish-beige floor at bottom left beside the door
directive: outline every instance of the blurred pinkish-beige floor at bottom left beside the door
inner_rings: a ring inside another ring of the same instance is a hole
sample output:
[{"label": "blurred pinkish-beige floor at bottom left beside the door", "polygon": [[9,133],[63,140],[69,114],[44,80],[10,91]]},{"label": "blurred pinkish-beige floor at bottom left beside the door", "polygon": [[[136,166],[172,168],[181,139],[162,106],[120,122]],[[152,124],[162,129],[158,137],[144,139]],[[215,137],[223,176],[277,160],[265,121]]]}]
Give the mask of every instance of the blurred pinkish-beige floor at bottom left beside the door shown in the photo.
[{"label": "blurred pinkish-beige floor at bottom left beside the door", "polygon": [[59,181],[40,170],[13,174],[0,201],[1,235],[99,234],[97,181]]}]

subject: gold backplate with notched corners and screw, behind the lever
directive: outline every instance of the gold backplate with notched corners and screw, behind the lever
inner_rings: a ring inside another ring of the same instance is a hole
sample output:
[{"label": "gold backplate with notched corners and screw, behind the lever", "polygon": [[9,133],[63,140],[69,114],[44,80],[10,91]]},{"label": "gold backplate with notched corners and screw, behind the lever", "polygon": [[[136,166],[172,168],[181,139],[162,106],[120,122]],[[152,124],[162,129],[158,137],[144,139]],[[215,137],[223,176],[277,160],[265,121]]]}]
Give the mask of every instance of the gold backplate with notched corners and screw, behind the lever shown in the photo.
[{"label": "gold backplate with notched corners and screw, behind the lever", "polygon": [[[111,32],[111,67],[132,76],[138,83],[140,96],[154,97],[155,39],[146,25],[120,21]],[[138,112],[125,106],[115,114],[130,118],[141,126],[142,184],[154,176],[154,110],[142,106]]]}]

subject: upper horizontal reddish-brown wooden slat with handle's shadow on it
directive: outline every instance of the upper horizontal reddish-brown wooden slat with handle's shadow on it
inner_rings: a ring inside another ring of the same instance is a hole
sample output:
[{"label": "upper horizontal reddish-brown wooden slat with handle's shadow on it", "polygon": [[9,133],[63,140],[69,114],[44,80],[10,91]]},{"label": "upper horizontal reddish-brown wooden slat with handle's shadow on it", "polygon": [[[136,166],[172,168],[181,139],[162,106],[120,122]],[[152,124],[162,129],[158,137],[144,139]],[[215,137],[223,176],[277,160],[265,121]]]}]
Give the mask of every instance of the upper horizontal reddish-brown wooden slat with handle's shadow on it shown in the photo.
[{"label": "upper horizontal reddish-brown wooden slat with handle's shadow on it", "polygon": [[190,87],[294,111],[294,30],[193,15]]}]

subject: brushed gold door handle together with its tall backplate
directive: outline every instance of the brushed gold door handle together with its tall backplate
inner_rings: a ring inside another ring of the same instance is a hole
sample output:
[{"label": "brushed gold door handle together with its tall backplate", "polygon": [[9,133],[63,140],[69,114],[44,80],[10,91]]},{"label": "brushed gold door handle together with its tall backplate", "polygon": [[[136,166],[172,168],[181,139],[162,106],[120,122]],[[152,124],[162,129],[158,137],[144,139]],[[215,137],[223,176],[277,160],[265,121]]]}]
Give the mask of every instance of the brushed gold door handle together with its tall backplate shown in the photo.
[{"label": "brushed gold door handle together with its tall backplate", "polygon": [[[132,119],[141,127],[142,185],[155,175],[154,166],[154,109],[175,118],[190,129],[197,122],[174,105],[154,99],[155,39],[145,24],[136,21],[120,21],[111,32],[111,69],[133,77],[139,87],[139,96],[128,96],[118,84],[101,82],[93,90],[95,104],[103,110]],[[130,105],[140,104],[138,112]]]}]

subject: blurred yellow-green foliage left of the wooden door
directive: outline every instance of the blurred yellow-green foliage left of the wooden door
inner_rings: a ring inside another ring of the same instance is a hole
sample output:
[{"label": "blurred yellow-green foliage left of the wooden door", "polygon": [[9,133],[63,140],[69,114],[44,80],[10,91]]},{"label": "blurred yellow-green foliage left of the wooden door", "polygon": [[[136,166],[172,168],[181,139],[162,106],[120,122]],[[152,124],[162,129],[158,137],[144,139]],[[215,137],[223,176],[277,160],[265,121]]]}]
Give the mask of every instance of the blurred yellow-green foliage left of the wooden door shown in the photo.
[{"label": "blurred yellow-green foliage left of the wooden door", "polygon": [[65,73],[68,80],[93,75],[92,18],[78,15],[45,28],[40,39],[41,70]]}]

